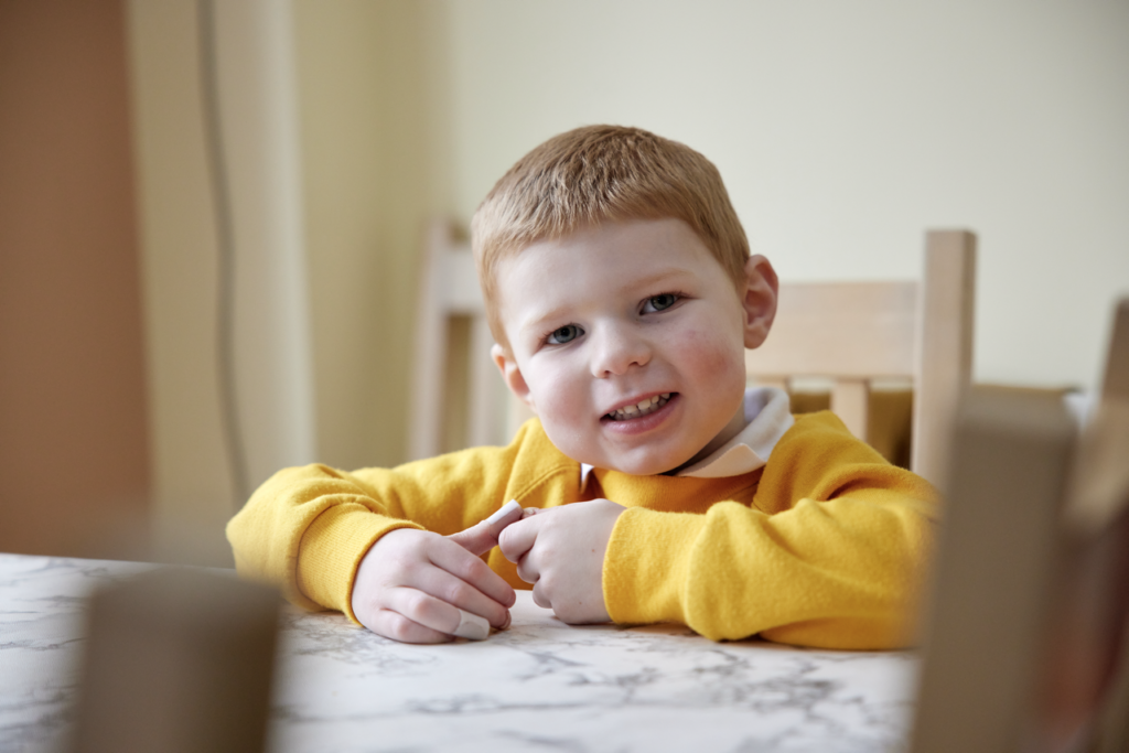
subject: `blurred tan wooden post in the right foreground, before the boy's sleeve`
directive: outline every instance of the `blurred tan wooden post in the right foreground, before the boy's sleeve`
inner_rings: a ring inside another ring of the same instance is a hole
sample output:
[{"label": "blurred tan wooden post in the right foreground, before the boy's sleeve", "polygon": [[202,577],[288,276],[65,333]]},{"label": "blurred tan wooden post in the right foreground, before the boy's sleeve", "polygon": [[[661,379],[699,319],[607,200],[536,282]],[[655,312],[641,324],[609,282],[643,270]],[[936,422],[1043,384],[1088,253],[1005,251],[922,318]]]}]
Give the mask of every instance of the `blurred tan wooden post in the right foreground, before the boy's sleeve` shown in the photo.
[{"label": "blurred tan wooden post in the right foreground, before the boy's sleeve", "polygon": [[1074,427],[1050,395],[966,394],[912,753],[1019,750],[1073,445]]}]

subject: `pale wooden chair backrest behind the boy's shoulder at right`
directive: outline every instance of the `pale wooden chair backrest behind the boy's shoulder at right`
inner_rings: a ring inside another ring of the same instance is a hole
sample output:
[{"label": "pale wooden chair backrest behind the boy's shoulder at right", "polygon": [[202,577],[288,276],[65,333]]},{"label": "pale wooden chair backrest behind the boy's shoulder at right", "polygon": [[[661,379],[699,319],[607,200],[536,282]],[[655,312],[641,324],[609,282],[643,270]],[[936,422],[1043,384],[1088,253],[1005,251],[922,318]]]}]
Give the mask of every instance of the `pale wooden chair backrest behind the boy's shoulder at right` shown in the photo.
[{"label": "pale wooden chair backrest behind the boy's shoulder at right", "polygon": [[913,384],[910,467],[944,474],[952,415],[972,376],[977,238],[965,230],[926,234],[921,282],[786,283],[768,341],[746,351],[759,384],[797,377],[832,380],[831,410],[868,439],[870,384]]}]

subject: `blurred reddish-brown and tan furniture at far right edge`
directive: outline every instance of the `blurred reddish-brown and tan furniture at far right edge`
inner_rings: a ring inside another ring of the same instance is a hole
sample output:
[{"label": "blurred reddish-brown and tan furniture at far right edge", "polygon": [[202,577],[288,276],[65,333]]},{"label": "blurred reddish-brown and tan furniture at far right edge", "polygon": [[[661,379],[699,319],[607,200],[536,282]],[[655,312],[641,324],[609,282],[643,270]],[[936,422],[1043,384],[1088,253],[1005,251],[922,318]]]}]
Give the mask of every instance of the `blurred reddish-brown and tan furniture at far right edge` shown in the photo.
[{"label": "blurred reddish-brown and tan furniture at far right edge", "polygon": [[[1043,737],[1089,735],[1129,751],[1129,298],[1119,303],[1102,391],[1064,510],[1061,575],[1036,708]],[[1053,750],[1066,750],[1059,744]]]}]

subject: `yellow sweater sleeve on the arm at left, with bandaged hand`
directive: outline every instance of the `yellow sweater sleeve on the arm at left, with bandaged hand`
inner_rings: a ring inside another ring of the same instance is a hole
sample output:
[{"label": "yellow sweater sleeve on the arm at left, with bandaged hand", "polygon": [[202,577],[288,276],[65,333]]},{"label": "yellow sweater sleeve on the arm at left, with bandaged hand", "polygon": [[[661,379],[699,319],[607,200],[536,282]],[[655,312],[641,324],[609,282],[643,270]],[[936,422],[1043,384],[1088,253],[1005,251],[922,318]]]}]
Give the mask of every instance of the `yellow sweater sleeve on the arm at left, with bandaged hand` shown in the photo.
[{"label": "yellow sweater sleeve on the arm at left, with bandaged hand", "polygon": [[239,575],[281,586],[305,608],[332,608],[356,622],[352,583],[369,548],[396,528],[448,535],[505,504],[519,452],[480,447],[352,473],[307,465],[275,473],[227,526]]}]

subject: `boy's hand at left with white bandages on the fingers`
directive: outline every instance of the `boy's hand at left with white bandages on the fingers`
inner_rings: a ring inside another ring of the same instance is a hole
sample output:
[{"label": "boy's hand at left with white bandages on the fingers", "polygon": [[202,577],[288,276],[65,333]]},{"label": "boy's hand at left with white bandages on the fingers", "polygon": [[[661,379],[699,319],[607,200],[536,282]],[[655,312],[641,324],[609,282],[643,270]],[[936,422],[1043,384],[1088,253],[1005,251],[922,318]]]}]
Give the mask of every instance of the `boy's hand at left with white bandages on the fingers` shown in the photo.
[{"label": "boy's hand at left with white bandages on the fingers", "polygon": [[373,632],[405,643],[452,640],[462,619],[460,610],[499,630],[509,627],[508,607],[517,596],[478,555],[497,544],[498,534],[519,519],[519,510],[450,536],[415,528],[380,536],[353,580],[357,619]]}]

